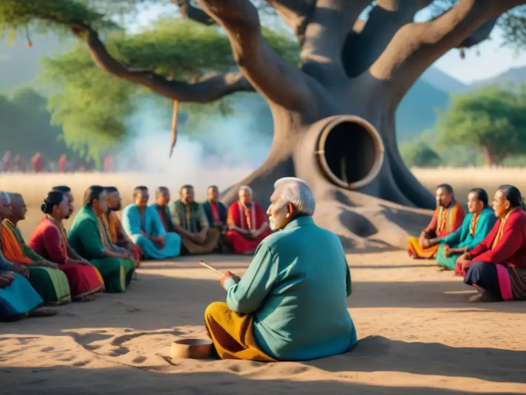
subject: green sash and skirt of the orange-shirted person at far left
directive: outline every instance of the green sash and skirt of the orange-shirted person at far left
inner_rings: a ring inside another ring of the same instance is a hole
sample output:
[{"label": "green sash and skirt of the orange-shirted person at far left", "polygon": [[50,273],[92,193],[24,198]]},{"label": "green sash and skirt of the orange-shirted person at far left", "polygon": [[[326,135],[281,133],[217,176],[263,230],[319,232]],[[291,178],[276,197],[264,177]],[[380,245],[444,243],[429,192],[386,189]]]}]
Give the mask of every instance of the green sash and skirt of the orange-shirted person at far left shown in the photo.
[{"label": "green sash and skirt of the orange-shirted person at far left", "polygon": [[[44,260],[26,244],[22,232],[11,221],[4,224],[13,232],[22,253],[32,262]],[[66,304],[71,302],[71,291],[66,274],[60,269],[26,266],[29,270],[29,283],[46,304]]]}]

